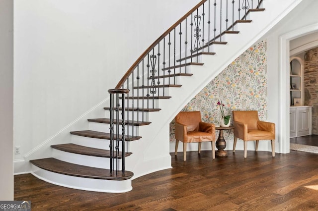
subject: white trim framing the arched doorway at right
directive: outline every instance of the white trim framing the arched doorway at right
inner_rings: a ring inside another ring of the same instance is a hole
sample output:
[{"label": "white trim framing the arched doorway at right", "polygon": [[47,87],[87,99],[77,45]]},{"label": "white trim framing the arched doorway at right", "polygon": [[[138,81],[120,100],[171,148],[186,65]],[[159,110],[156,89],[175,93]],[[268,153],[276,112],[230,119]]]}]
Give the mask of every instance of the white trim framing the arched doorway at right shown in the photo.
[{"label": "white trim framing the arched doorway at right", "polygon": [[289,153],[289,42],[318,32],[318,23],[296,29],[279,37],[279,152]]}]

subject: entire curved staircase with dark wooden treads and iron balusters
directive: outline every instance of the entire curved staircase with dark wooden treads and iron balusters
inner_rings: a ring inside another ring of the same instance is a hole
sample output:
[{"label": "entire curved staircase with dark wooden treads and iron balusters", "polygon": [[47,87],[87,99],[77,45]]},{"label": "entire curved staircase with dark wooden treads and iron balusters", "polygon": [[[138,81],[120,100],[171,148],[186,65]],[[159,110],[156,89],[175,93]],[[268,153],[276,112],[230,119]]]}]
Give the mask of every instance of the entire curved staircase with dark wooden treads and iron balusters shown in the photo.
[{"label": "entire curved staircase with dark wooden treads and iron balusters", "polygon": [[[66,187],[120,193],[132,189],[133,177],[171,167],[169,122],[198,90],[284,16],[283,6],[266,13],[278,6],[274,1],[254,0],[249,7],[246,2],[250,1],[240,1],[240,5],[227,1],[219,13],[226,7],[233,14],[221,20],[216,15],[220,0],[202,0],[192,8],[110,91],[114,102],[104,108],[105,116],[88,119],[87,130],[72,131],[70,143],[52,145],[52,158],[30,160],[32,174]],[[258,11],[267,16],[251,14]],[[116,95],[127,89],[128,94]]]}]

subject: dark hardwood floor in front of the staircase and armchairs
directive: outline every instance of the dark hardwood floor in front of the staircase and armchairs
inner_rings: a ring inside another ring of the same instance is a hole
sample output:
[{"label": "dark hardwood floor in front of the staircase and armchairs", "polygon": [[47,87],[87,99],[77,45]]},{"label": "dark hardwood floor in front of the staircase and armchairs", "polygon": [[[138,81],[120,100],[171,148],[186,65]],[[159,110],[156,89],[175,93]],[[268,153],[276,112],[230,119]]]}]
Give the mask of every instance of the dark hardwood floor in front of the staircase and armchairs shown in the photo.
[{"label": "dark hardwood floor in front of the staircase and armchairs", "polygon": [[210,151],[171,154],[171,169],[133,180],[133,190],[111,194],[75,190],[15,176],[15,200],[30,200],[32,211],[281,211],[318,210],[318,154],[291,151]]}]

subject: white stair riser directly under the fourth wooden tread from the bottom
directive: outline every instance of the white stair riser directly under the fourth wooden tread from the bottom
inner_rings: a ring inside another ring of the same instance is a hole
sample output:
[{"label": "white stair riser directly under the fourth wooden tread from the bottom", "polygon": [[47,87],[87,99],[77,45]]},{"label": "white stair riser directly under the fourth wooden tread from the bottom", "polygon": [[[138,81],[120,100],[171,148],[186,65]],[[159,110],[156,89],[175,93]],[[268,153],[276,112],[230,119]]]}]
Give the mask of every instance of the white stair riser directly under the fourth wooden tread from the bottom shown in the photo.
[{"label": "white stair riser directly under the fourth wooden tread from the bottom", "polygon": [[[105,123],[99,123],[99,122],[89,122],[88,123],[88,128],[89,130],[94,130],[94,131],[99,131],[99,132],[104,132],[104,133],[110,133],[110,124],[105,124]],[[130,133],[134,133],[134,135],[139,134],[139,127],[138,126],[133,126],[133,125],[125,125],[125,130],[129,131]],[[117,132],[117,126],[114,124],[114,133],[118,134]],[[119,124],[119,134],[122,133],[122,125]]]}]

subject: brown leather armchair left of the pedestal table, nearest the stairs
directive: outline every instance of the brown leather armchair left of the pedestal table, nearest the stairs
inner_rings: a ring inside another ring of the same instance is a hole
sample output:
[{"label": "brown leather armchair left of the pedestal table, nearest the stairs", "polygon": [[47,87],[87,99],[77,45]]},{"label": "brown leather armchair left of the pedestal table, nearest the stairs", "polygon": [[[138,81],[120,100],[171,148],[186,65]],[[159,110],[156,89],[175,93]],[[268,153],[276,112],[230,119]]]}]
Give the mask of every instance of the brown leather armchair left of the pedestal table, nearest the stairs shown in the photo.
[{"label": "brown leather armchair left of the pedestal table, nearest the stairs", "polygon": [[179,141],[183,142],[183,160],[186,160],[187,143],[198,142],[199,154],[202,142],[211,142],[215,158],[215,125],[201,121],[200,111],[181,111],[175,117],[175,155]]}]

